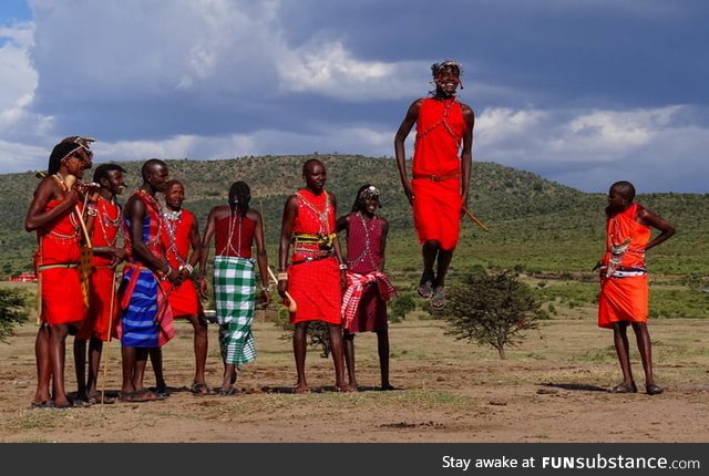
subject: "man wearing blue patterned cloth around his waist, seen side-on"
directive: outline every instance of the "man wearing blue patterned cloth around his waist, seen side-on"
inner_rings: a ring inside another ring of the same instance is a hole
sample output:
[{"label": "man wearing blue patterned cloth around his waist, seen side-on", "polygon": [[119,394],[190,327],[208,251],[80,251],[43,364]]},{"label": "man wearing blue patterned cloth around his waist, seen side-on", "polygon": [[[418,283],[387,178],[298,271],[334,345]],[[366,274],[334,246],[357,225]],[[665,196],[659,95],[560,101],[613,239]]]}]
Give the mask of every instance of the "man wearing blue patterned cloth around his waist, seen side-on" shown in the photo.
[{"label": "man wearing blue patterned cloth around his waist, seen side-on", "polygon": [[[151,158],[141,168],[143,185],[125,204],[123,220],[126,263],[120,289],[121,353],[123,383],[121,400],[145,402],[160,400],[143,385],[148,351],[164,345],[175,335],[172,309],[162,280],[173,286],[182,275],[167,262],[162,209],[155,194],[165,193],[167,165]],[[161,370],[162,371],[162,370]]]}]

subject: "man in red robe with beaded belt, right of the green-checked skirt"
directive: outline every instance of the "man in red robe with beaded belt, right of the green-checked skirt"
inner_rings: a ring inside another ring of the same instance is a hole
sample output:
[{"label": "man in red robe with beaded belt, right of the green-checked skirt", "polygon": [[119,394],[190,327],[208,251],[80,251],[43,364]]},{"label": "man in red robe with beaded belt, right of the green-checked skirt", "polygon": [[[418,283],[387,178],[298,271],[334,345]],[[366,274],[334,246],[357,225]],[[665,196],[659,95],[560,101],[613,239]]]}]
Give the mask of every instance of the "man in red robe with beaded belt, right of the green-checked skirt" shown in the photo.
[{"label": "man in red robe with beaded belt, right of the green-checked skirt", "polygon": [[309,392],[305,363],[311,321],[328,325],[336,390],[351,391],[345,382],[342,362],[340,303],[342,289],[347,286],[347,265],[342,261],[335,226],[337,200],[335,194],[325,189],[327,172],[320,161],[307,161],[302,166],[302,178],[305,188],[286,200],[278,248],[278,293],[286,298],[288,291],[298,307],[290,313],[290,322],[296,327],[292,349],[298,374],[294,392]]}]

